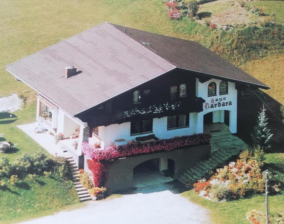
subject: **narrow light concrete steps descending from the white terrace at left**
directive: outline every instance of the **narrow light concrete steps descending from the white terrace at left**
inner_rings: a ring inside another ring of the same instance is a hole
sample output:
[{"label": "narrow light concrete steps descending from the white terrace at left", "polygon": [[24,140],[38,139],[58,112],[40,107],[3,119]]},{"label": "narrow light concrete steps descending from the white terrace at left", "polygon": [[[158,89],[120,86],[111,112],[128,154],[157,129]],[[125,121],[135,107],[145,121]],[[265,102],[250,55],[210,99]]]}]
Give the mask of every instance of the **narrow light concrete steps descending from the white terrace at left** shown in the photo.
[{"label": "narrow light concrete steps descending from the white terrace at left", "polygon": [[78,194],[80,200],[82,202],[84,202],[84,201],[88,201],[88,200],[92,199],[87,188],[84,188],[83,184],[80,182],[80,180],[78,178],[79,169],[78,169],[76,163],[74,162],[73,157],[71,155],[64,155],[63,157],[66,158],[68,163],[69,163],[69,167],[70,167],[71,172],[72,172],[74,187],[77,191],[77,194]]}]

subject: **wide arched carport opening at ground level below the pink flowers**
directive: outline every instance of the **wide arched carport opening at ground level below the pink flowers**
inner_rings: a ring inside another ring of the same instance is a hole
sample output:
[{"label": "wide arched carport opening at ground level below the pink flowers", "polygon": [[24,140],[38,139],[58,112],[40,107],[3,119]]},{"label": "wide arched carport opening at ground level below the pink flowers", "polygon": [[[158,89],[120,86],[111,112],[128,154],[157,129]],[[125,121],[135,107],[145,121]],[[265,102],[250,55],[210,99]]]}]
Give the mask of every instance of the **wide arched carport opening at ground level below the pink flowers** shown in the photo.
[{"label": "wide arched carport opening at ground level below the pink flowers", "polygon": [[145,187],[173,181],[174,173],[174,160],[168,158],[150,159],[133,168],[133,186]]}]

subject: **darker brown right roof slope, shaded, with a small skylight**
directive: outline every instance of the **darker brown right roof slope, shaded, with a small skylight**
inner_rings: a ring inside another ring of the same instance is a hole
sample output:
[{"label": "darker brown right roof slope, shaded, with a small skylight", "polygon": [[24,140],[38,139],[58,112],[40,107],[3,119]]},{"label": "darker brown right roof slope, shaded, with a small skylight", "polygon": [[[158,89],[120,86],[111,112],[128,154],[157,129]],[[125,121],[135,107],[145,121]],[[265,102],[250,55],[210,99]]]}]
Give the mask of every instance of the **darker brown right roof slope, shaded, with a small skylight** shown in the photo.
[{"label": "darker brown right roof slope, shaded, with a small skylight", "polygon": [[197,71],[213,77],[215,76],[216,78],[221,77],[232,81],[254,84],[259,86],[259,88],[269,89],[264,83],[197,42],[154,34],[116,24],[113,25],[120,31],[126,29],[126,34],[139,43],[150,43],[151,45],[144,46],[179,68]]}]

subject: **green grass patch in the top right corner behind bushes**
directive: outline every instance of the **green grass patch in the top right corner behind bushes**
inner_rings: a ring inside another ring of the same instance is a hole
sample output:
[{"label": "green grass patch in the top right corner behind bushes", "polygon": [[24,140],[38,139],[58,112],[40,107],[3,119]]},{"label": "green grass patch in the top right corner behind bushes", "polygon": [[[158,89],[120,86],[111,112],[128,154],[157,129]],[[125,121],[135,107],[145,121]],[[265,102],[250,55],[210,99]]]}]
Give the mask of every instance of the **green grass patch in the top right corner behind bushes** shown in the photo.
[{"label": "green grass patch in the top right corner behind bushes", "polygon": [[268,15],[275,14],[276,22],[284,23],[284,1],[253,1],[253,5],[264,7],[264,12]]}]

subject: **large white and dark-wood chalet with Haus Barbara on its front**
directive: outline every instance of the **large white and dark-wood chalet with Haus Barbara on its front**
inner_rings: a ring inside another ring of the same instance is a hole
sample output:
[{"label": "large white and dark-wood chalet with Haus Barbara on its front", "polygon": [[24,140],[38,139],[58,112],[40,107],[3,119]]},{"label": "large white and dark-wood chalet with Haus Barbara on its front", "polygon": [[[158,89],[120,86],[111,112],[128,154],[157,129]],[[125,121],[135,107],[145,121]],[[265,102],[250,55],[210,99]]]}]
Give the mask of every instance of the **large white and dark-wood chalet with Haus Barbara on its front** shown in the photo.
[{"label": "large white and dark-wood chalet with Haus Barbara on its front", "polygon": [[[201,44],[103,23],[6,67],[37,95],[36,120],[97,150],[214,131],[237,132],[237,92],[269,89]],[[76,133],[77,130],[78,132]],[[107,188],[128,187],[150,161],[177,178],[210,145],[113,160]],[[85,165],[84,165],[85,164]],[[134,170],[134,171],[133,171]],[[137,171],[138,172],[138,171]]]}]

